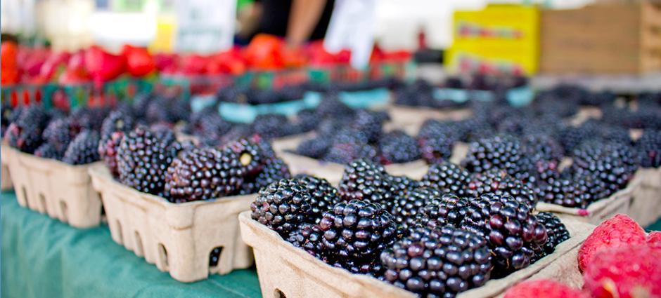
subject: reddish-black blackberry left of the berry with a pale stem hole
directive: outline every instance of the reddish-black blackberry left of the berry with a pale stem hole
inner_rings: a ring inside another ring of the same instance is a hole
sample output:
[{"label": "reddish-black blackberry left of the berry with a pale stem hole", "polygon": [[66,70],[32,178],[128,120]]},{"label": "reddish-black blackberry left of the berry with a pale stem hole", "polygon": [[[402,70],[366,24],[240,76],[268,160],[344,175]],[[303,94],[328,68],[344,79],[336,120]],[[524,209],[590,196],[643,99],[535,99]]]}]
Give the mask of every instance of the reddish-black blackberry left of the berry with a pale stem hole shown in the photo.
[{"label": "reddish-black blackberry left of the berry with a pale stem hole", "polygon": [[174,158],[165,174],[165,192],[173,203],[229,196],[243,183],[243,167],[228,149],[200,148]]}]

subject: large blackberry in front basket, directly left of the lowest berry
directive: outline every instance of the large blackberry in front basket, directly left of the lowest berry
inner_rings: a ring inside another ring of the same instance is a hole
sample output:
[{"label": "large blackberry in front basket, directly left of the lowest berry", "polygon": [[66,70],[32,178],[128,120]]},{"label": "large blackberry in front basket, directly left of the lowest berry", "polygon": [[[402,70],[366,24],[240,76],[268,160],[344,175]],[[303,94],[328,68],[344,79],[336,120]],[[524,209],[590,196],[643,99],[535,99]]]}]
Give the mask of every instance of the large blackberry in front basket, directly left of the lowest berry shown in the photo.
[{"label": "large blackberry in front basket, directly left of the lowest berry", "polygon": [[381,205],[352,200],[335,204],[319,222],[323,247],[338,257],[336,266],[353,273],[378,275],[378,256],[390,248],[401,231]]}]

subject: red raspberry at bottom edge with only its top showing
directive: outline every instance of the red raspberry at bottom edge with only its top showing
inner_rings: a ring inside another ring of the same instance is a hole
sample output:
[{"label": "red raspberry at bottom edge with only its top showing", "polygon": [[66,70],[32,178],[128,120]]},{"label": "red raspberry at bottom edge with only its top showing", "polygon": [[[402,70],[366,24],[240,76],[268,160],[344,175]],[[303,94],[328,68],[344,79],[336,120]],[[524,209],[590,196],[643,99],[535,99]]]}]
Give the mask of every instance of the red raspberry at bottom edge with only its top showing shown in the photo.
[{"label": "red raspberry at bottom edge with only its top showing", "polygon": [[579,290],[555,280],[526,280],[507,290],[504,298],[584,298]]}]

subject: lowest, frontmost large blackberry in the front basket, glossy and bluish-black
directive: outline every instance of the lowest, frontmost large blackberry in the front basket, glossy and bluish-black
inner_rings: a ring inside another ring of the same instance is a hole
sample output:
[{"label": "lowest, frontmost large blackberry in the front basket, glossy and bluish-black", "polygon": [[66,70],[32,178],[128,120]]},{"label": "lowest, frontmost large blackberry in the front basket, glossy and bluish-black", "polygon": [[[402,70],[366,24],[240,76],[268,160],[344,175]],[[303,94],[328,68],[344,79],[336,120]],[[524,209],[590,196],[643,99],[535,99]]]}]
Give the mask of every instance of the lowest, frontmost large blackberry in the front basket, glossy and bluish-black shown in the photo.
[{"label": "lowest, frontmost large blackberry in the front basket, glossy and bluish-black", "polygon": [[492,271],[487,241],[453,226],[413,229],[380,259],[387,282],[420,297],[455,297],[487,283]]}]

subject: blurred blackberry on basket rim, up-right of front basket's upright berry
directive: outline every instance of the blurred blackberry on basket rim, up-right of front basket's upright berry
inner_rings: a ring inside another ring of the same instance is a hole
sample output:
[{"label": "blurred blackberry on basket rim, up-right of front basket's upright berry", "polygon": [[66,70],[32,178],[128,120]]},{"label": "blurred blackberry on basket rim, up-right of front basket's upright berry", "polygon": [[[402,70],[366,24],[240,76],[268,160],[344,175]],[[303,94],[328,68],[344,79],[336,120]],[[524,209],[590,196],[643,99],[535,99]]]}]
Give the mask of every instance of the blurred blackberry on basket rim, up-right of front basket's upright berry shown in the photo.
[{"label": "blurred blackberry on basket rim, up-right of front basket's upright berry", "polygon": [[401,130],[385,134],[379,142],[379,149],[385,164],[406,163],[421,157],[416,139]]}]

